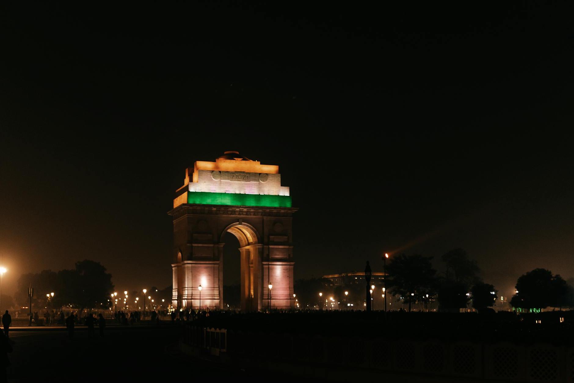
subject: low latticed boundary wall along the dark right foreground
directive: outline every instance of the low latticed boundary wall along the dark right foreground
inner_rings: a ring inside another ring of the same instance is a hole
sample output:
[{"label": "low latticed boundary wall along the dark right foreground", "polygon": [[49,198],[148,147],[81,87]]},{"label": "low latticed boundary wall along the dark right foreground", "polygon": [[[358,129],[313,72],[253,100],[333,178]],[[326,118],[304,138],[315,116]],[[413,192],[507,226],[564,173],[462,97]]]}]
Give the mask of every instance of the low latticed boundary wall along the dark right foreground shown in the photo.
[{"label": "low latticed boundary wall along the dark right foreground", "polygon": [[227,351],[230,357],[482,380],[574,383],[574,347],[545,343],[389,341],[209,328],[195,331],[191,342]]}]

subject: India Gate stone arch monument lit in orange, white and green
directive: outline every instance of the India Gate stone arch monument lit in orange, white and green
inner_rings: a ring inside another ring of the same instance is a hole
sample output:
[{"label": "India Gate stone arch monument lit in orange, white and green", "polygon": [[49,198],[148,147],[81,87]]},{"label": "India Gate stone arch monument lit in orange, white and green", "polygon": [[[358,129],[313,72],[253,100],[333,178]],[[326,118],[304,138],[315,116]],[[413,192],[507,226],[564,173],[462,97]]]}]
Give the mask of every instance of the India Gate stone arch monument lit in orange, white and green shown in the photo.
[{"label": "India Gate stone arch monument lit in orange, white and green", "polygon": [[228,151],[185,169],[173,200],[173,307],[223,308],[223,239],[239,240],[241,309],[295,307],[293,213],[277,165]]}]

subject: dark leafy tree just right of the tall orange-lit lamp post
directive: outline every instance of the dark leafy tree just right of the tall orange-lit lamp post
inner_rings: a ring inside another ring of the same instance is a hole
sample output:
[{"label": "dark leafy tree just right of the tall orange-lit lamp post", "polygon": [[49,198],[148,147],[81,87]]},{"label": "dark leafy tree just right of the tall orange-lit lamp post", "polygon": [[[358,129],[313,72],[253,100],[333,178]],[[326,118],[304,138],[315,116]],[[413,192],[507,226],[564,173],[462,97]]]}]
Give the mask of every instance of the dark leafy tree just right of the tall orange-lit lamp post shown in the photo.
[{"label": "dark leafy tree just right of the tall orange-lit lamp post", "polygon": [[432,291],[435,285],[436,270],[432,268],[432,256],[401,254],[394,256],[387,265],[387,288],[392,288],[393,296],[404,297],[409,302],[409,312],[413,296],[422,296]]}]

